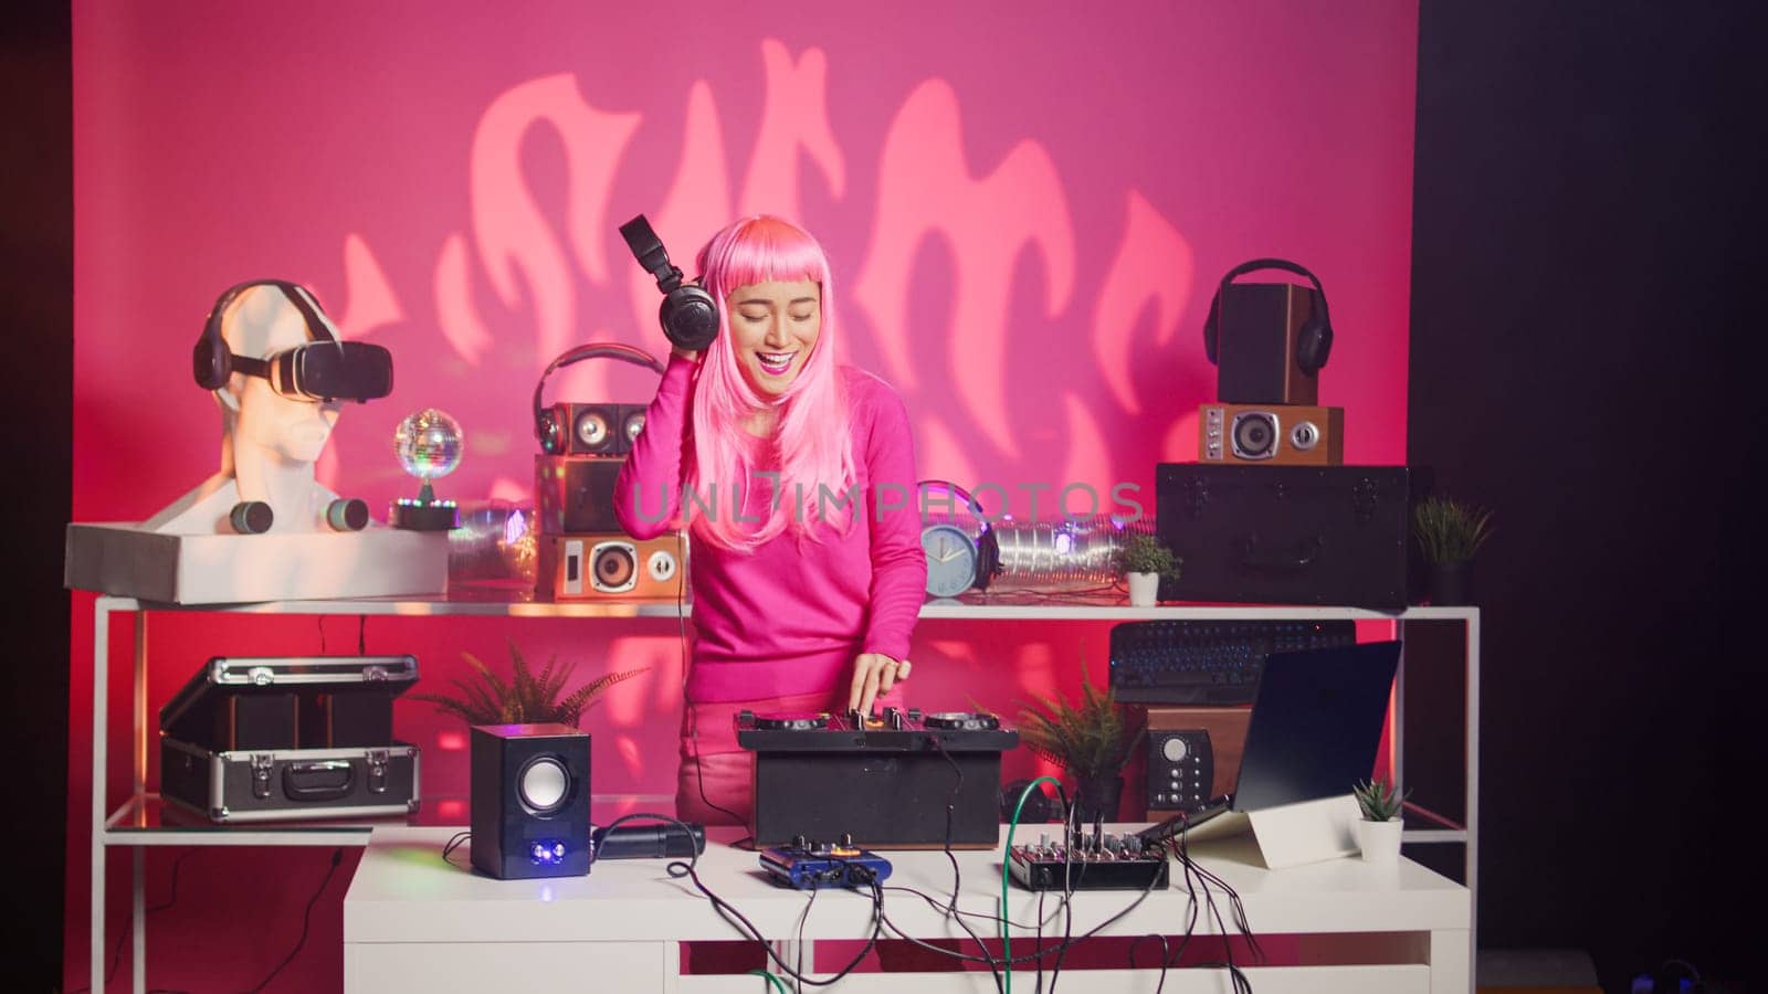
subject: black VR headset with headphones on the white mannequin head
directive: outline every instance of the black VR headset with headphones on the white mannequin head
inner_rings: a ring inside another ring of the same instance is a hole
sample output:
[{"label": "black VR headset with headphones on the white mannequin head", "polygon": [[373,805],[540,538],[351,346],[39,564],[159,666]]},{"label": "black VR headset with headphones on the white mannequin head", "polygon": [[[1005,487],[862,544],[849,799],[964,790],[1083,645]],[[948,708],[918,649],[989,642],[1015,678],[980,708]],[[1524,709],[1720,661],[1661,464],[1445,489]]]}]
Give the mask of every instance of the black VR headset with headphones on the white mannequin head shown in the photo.
[{"label": "black VR headset with headphones on the white mannequin head", "polygon": [[[233,301],[253,287],[274,287],[295,306],[308,327],[306,343],[263,359],[235,356],[228,348],[221,320]],[[286,279],[248,279],[228,287],[203,322],[203,334],[191,354],[191,373],[196,386],[207,391],[221,389],[233,373],[263,377],[290,400],[370,401],[392,393],[392,354],[366,341],[339,341],[320,317],[313,294]]]}]

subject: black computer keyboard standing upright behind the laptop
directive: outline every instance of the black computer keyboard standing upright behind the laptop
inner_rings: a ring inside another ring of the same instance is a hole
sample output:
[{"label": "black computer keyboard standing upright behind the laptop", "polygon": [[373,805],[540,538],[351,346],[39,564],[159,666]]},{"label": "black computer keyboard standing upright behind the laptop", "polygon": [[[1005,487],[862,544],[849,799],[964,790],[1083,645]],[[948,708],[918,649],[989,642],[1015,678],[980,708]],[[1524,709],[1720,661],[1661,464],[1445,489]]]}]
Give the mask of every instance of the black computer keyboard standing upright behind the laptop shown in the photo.
[{"label": "black computer keyboard standing upright behind the laptop", "polygon": [[1353,621],[1124,621],[1110,688],[1137,704],[1250,704],[1268,654],[1353,644]]}]

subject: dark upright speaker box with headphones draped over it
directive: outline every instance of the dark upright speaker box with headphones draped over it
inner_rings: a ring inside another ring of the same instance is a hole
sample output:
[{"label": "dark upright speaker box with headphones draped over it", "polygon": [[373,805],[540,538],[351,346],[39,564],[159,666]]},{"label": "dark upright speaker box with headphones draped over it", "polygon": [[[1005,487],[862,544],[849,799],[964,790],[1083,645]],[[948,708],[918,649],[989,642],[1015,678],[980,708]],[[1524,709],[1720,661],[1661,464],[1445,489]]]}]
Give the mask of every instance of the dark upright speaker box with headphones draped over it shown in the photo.
[{"label": "dark upright speaker box with headphones draped over it", "polygon": [[1216,400],[1222,403],[1319,403],[1319,371],[1296,361],[1314,288],[1296,283],[1231,283],[1216,318]]}]

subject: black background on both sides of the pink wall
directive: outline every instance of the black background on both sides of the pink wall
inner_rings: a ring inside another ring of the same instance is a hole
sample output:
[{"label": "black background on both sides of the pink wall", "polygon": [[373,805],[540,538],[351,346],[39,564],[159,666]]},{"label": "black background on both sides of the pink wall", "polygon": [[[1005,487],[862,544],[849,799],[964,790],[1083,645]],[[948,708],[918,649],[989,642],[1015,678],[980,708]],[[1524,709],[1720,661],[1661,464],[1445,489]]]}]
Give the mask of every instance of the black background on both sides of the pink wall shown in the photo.
[{"label": "black background on both sides of the pink wall", "polygon": [[[1475,578],[1480,944],[1584,950],[1604,990],[1671,957],[1761,989],[1727,911],[1749,906],[1740,815],[1761,773],[1745,759],[1763,755],[1743,734],[1763,531],[1745,205],[1768,177],[1752,37],[1741,2],[1421,0],[1409,462],[1497,525]],[[14,983],[51,990],[72,515],[67,9],[14,9],[0,51],[0,368],[23,509],[4,531],[23,635],[5,824],[30,950]]]}]

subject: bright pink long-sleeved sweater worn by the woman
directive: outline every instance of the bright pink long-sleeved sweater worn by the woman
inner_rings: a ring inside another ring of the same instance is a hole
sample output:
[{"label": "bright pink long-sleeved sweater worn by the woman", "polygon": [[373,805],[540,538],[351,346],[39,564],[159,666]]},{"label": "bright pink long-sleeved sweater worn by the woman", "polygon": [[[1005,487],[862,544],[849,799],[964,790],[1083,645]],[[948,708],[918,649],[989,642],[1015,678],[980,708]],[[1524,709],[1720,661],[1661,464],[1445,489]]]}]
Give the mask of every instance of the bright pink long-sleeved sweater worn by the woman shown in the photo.
[{"label": "bright pink long-sleeved sweater worn by the woman", "polygon": [[[681,527],[684,456],[691,458],[693,451],[688,416],[693,375],[695,363],[670,357],[645,414],[645,430],[615,483],[613,509],[633,538]],[[856,508],[845,536],[819,524],[822,541],[799,541],[783,532],[751,554],[705,539],[691,543],[691,700],[831,692],[852,679],[859,653],[893,660],[909,653],[909,635],[926,598],[909,414],[896,391],[877,377],[849,366],[842,366],[840,375],[865,513]],[[898,486],[882,493],[891,504],[882,515],[877,511],[880,483]],[[723,490],[720,486],[716,513],[730,515],[730,497]],[[751,474],[744,495],[746,518],[767,511],[766,478]],[[790,499],[785,495],[787,502]],[[705,511],[695,506],[693,513]]]}]

